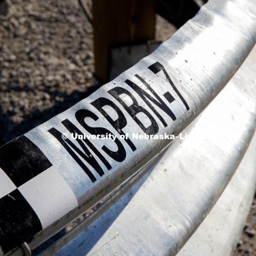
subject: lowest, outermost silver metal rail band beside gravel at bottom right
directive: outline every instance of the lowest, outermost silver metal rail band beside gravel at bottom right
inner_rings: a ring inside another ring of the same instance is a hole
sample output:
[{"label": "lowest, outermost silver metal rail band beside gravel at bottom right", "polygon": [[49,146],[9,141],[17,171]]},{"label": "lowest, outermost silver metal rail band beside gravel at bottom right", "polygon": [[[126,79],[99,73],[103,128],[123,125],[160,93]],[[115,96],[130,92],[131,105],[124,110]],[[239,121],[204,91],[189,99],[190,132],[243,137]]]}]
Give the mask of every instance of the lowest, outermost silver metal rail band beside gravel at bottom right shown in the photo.
[{"label": "lowest, outermost silver metal rail band beside gravel at bottom right", "polygon": [[177,256],[233,255],[255,193],[256,134],[227,188]]}]

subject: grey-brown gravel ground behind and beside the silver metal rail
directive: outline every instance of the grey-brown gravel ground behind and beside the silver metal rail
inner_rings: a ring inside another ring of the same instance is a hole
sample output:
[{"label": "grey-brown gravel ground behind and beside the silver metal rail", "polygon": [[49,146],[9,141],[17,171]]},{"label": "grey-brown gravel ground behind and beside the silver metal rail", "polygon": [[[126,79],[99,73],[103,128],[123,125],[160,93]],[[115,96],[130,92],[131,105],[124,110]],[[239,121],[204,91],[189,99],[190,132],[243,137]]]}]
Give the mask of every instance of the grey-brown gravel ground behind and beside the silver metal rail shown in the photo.
[{"label": "grey-brown gravel ground behind and beside the silver metal rail", "polygon": [[[76,0],[0,1],[0,146],[94,91],[93,30]],[[157,15],[156,39],[175,28]],[[82,218],[83,219],[83,218]],[[77,220],[79,222],[79,219]],[[256,255],[256,199],[235,256]]]}]

